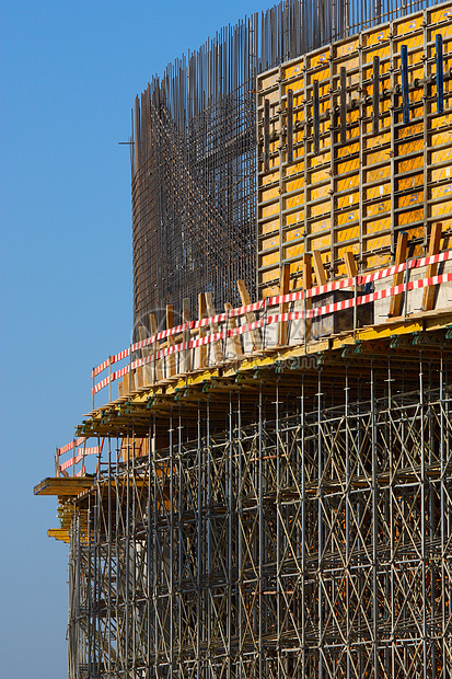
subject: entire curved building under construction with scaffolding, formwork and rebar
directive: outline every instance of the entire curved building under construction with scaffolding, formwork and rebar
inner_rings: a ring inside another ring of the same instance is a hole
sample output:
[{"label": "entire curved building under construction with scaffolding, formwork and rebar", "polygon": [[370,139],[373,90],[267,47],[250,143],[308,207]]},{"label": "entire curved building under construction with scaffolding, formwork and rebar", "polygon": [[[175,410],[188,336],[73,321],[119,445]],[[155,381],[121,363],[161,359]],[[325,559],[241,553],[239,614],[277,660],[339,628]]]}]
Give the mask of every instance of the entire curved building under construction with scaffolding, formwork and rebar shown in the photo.
[{"label": "entire curved building under construction with scaffolding, formwork and rebar", "polygon": [[285,0],[132,115],[132,343],[34,490],[69,679],[450,679],[452,1]]}]

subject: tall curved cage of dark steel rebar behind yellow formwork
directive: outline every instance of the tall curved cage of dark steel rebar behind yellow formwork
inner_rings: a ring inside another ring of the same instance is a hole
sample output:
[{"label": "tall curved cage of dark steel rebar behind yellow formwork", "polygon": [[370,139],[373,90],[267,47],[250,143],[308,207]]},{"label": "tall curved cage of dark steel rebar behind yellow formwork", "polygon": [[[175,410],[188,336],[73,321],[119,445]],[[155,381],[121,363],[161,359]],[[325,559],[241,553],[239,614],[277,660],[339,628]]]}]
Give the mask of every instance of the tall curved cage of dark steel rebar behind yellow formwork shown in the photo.
[{"label": "tall curved cage of dark steel rebar behind yellow formwork", "polygon": [[154,77],[134,112],[135,327],[212,292],[256,289],[256,77],[434,0],[283,0]]}]

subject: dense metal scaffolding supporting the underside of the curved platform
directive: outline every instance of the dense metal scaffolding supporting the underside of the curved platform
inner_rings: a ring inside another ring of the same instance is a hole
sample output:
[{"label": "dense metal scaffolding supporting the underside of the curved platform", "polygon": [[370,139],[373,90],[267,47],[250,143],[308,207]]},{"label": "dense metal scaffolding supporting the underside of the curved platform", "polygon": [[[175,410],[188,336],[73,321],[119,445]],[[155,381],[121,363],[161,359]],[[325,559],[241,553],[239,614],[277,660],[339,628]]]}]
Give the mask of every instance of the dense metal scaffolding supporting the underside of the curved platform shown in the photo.
[{"label": "dense metal scaffolding supporting the underside of the curved platform", "polygon": [[71,508],[69,676],[450,677],[451,348],[401,336],[130,408]]}]

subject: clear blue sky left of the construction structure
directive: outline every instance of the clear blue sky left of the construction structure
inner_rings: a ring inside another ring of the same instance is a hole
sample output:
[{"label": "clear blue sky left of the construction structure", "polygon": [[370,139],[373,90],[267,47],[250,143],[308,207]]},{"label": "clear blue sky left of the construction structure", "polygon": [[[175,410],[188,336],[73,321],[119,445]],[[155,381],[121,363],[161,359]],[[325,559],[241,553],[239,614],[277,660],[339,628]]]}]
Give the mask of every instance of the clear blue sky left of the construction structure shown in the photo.
[{"label": "clear blue sky left of the construction structure", "polygon": [[[269,3],[270,4],[270,3]],[[264,0],[0,1],[0,677],[67,677],[56,446],[130,341],[130,108],[153,73]]]}]

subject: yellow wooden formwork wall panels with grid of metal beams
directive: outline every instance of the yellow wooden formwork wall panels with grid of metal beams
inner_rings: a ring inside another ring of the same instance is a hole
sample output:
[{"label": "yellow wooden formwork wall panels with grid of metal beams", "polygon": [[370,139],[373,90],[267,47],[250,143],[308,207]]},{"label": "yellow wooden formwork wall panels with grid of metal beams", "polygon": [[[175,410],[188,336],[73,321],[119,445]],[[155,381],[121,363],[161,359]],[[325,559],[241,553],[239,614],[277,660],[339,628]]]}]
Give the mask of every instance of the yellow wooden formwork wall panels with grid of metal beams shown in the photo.
[{"label": "yellow wooden formwork wall panels with grid of metal beams", "polygon": [[283,264],[300,288],[305,253],[331,279],[346,252],[360,272],[386,266],[401,232],[418,256],[438,220],[450,248],[451,2],[267,71],[257,97],[260,297],[277,294]]}]

